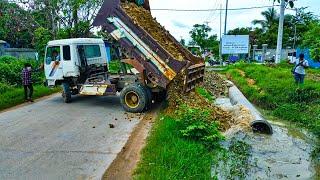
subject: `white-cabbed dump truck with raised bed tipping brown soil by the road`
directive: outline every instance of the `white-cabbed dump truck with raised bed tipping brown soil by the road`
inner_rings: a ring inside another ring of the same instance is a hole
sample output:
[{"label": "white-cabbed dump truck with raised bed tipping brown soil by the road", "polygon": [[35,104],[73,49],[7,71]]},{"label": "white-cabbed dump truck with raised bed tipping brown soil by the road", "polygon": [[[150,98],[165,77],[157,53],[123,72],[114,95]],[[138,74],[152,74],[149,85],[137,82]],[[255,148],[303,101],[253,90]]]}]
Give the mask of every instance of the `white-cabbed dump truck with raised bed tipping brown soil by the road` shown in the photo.
[{"label": "white-cabbed dump truck with raised bed tipping brown soil by the road", "polygon": [[110,73],[102,39],[50,41],[45,57],[47,84],[62,85],[66,103],[76,94],[118,92],[123,108],[136,113],[148,110],[155,99],[164,99],[178,75],[181,93],[203,82],[203,59],[192,55],[152,17],[148,1],[106,0],[93,25],[117,44],[121,71]]}]

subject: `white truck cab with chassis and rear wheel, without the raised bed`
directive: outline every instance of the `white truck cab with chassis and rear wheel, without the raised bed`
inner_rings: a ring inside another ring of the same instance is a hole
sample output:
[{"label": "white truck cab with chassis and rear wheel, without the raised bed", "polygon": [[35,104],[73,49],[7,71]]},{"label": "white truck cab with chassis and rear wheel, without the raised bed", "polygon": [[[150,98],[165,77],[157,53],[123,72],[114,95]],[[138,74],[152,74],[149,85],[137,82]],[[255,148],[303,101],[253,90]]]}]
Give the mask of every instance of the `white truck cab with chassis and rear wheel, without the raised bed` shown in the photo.
[{"label": "white truck cab with chassis and rear wheel, without the raised bed", "polygon": [[120,101],[129,112],[142,112],[151,106],[151,89],[141,76],[127,72],[126,59],[118,74],[109,73],[110,57],[102,39],[78,38],[50,41],[46,47],[44,70],[49,87],[62,85],[64,102],[72,95],[108,96],[120,92]]}]

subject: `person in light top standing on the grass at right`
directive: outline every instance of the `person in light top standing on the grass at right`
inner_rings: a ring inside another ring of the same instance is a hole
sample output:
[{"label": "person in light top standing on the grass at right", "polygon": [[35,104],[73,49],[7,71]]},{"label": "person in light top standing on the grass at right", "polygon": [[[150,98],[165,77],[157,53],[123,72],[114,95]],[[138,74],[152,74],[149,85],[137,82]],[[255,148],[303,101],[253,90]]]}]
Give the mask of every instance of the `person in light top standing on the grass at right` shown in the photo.
[{"label": "person in light top standing on the grass at right", "polygon": [[304,83],[304,77],[306,76],[305,69],[307,69],[308,67],[309,63],[304,59],[304,54],[300,54],[299,60],[297,60],[296,65],[292,70],[296,84]]}]

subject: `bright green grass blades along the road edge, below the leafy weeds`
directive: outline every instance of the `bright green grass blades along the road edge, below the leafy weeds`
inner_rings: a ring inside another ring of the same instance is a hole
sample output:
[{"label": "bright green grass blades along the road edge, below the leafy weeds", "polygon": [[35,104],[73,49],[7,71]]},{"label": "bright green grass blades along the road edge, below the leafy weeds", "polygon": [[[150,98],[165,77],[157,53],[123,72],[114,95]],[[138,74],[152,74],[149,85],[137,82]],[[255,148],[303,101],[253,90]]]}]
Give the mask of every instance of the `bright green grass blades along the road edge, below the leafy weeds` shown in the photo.
[{"label": "bright green grass blades along the road edge, below the leafy weeds", "polygon": [[179,122],[162,115],[155,123],[135,179],[212,179],[215,152],[181,138]]}]

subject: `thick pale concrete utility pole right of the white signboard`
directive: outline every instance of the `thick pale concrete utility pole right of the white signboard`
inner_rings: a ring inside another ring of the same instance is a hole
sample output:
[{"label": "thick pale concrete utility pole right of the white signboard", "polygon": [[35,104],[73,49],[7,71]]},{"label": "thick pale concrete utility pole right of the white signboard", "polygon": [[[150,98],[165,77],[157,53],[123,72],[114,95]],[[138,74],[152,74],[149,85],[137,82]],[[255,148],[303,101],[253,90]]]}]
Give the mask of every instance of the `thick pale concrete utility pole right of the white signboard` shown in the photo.
[{"label": "thick pale concrete utility pole right of the white signboard", "polygon": [[276,52],[276,63],[280,63],[282,54],[282,39],[283,39],[283,22],[284,22],[284,10],[285,0],[281,0],[280,4],[280,18],[279,18],[279,29],[278,29],[278,41],[277,41],[277,52]]}]

